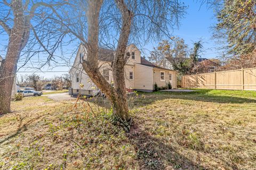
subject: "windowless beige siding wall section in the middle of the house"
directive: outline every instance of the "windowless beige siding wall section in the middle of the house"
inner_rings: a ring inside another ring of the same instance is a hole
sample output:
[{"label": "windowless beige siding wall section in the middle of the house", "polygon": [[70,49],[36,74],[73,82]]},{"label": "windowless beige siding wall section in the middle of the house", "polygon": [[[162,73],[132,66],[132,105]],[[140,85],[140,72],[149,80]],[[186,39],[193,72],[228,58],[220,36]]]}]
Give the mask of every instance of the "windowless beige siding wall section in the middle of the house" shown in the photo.
[{"label": "windowless beige siding wall section in the middle of the house", "polygon": [[153,68],[135,64],[134,70],[135,89],[153,90]]}]

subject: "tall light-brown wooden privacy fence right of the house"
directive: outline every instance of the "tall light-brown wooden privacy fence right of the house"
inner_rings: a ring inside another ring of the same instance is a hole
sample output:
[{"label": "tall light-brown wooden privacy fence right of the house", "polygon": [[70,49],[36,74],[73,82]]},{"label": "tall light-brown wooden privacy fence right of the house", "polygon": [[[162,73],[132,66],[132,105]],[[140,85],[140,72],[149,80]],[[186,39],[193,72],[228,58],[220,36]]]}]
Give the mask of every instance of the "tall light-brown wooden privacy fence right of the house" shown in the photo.
[{"label": "tall light-brown wooden privacy fence right of the house", "polygon": [[256,90],[256,67],[184,75],[182,77],[182,88]]}]

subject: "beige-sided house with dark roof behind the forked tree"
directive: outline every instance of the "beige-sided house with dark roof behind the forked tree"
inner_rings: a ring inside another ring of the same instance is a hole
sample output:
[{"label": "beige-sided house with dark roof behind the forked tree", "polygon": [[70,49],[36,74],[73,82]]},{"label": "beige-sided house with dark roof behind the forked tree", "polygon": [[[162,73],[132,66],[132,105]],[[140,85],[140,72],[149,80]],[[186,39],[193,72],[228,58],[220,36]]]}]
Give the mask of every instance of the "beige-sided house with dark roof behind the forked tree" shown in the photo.
[{"label": "beige-sided house with dark roof behind the forked tree", "polygon": [[[157,83],[158,87],[166,86],[168,82],[172,88],[177,87],[177,72],[154,64],[141,57],[140,50],[135,45],[130,45],[126,50],[125,65],[125,86],[136,91],[153,91],[153,86]],[[99,48],[99,68],[103,77],[108,83],[113,82],[111,63],[114,60],[115,51],[105,48]],[[86,48],[79,46],[78,52],[72,68],[69,71],[71,78],[71,95],[93,95],[98,88],[91,81],[89,76],[82,68],[82,62],[86,59]]]}]

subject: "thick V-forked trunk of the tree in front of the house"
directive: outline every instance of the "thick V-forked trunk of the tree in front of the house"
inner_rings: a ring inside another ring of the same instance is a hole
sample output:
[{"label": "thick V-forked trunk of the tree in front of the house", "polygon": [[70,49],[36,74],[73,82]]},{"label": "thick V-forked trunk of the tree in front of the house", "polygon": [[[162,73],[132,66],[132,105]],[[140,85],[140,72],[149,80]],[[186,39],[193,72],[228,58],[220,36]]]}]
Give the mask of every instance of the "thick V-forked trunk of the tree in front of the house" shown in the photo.
[{"label": "thick V-forked trunk of the tree in front of the house", "polygon": [[101,0],[89,1],[90,8],[87,9],[86,13],[89,25],[88,42],[85,45],[87,47],[87,59],[83,63],[83,69],[95,85],[110,99],[113,104],[114,115],[118,117],[119,121],[124,123],[124,125],[127,125],[131,118],[126,99],[124,65],[132,15],[130,11],[127,10],[124,1],[117,1],[116,3],[123,15],[123,25],[113,64],[114,88],[103,78],[99,72],[98,66],[99,12],[102,5]]}]

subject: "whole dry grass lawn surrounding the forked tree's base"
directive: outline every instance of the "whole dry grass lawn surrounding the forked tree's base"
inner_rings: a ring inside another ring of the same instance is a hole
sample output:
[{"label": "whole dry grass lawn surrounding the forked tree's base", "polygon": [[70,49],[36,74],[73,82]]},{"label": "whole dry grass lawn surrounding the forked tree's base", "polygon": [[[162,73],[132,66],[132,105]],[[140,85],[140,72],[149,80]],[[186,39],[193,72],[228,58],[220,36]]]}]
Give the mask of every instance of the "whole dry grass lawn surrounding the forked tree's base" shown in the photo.
[{"label": "whole dry grass lawn surrounding the forked tree's base", "polygon": [[103,105],[14,101],[0,117],[0,168],[256,169],[256,92],[139,93],[129,133]]}]

